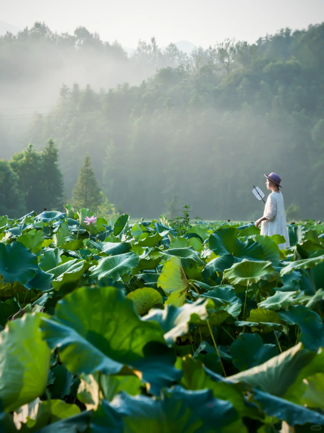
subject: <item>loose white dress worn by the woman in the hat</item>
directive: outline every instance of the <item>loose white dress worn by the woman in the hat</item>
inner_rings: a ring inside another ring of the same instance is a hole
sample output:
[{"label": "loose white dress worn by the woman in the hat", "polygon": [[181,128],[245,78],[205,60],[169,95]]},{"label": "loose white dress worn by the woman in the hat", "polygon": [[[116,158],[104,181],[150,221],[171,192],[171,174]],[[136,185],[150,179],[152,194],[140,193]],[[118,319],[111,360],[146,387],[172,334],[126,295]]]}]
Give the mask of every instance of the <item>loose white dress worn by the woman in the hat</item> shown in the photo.
[{"label": "loose white dress worn by the woman in the hat", "polygon": [[267,218],[261,223],[261,235],[282,235],[286,242],[279,246],[280,249],[287,249],[290,246],[287,221],[285,214],[285,205],[283,204],[283,194],[281,192],[272,192],[267,198],[267,203],[264,207],[263,216]]}]

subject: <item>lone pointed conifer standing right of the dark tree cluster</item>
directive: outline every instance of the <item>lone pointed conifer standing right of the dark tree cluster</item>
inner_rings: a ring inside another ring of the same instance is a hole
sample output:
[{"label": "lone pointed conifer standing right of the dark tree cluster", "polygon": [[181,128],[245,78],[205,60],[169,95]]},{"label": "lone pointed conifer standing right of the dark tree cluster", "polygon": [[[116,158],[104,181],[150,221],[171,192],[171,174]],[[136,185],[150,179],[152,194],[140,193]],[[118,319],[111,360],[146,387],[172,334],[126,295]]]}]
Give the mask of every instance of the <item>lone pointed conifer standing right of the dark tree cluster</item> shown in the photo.
[{"label": "lone pointed conifer standing right of the dark tree cluster", "polygon": [[92,170],[89,153],[86,154],[80,169],[80,175],[73,190],[72,201],[75,209],[87,207],[92,212],[96,212],[102,203],[101,188]]}]

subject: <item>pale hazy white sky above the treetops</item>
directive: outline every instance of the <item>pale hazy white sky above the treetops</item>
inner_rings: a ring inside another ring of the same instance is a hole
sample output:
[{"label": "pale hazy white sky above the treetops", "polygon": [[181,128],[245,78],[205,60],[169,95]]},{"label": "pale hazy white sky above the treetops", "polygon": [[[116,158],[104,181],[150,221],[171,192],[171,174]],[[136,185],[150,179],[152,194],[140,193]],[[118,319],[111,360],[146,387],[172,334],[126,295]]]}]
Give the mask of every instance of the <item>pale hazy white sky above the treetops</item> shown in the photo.
[{"label": "pale hazy white sky above the treetops", "polygon": [[226,37],[255,42],[284,27],[324,21],[324,0],[0,0],[0,20],[23,29],[44,21],[53,31],[85,26],[102,39],[136,47],[187,40],[207,47]]}]

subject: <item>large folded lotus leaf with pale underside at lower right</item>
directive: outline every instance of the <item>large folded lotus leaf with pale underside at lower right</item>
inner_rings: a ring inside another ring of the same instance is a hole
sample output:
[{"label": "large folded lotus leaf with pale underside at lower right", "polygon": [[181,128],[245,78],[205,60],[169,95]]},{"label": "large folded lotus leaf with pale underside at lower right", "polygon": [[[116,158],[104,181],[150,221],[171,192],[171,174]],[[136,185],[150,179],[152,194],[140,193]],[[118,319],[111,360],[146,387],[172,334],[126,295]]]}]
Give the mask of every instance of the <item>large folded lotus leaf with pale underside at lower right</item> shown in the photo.
[{"label": "large folded lotus leaf with pale underside at lower right", "polygon": [[256,367],[228,377],[229,381],[242,382],[248,389],[260,388],[276,396],[283,396],[298,377],[299,372],[315,357],[299,343]]}]

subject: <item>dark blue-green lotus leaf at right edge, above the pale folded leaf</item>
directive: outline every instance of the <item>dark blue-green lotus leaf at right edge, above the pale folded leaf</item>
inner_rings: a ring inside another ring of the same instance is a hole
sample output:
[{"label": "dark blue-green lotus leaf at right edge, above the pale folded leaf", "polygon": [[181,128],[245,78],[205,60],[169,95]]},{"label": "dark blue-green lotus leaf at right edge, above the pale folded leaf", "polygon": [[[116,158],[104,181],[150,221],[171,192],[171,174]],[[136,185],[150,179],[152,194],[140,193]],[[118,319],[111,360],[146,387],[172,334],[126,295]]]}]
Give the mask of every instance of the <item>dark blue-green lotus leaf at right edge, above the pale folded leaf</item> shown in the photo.
[{"label": "dark blue-green lotus leaf at right edge, above the pale folded leaf", "polygon": [[324,346],[324,324],[318,313],[304,305],[291,305],[288,310],[280,311],[278,314],[289,325],[300,326],[298,339],[306,349],[317,351],[319,347]]}]

